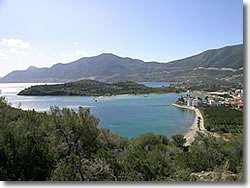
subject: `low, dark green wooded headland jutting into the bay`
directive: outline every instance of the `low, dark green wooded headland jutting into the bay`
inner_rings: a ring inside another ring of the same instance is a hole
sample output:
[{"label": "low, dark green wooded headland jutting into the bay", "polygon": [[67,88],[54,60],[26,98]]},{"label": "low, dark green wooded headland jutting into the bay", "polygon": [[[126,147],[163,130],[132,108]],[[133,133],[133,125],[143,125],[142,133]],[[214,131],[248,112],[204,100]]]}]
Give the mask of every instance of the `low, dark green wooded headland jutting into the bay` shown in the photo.
[{"label": "low, dark green wooded headland jutting into the bay", "polygon": [[25,96],[114,96],[178,93],[181,89],[152,88],[131,81],[104,83],[95,80],[80,80],[64,84],[31,86],[18,95]]}]

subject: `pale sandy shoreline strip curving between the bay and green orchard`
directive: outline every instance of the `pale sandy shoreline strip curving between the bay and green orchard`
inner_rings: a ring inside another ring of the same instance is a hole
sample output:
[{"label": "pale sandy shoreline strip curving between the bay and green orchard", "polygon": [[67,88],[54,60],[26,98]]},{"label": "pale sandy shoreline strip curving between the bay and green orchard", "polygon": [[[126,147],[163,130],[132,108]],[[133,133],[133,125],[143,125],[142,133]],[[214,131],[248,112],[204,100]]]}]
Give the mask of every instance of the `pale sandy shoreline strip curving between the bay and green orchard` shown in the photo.
[{"label": "pale sandy shoreline strip curving between the bay and green orchard", "polygon": [[[197,132],[205,132],[206,131],[206,129],[204,127],[203,116],[201,115],[200,110],[198,108],[189,107],[189,106],[182,106],[182,105],[178,105],[178,104],[171,104],[171,105],[175,106],[177,108],[184,108],[184,109],[195,111],[194,122],[191,125],[191,127],[189,128],[189,131],[187,132],[187,134],[184,136],[187,140],[187,142],[185,143],[185,146],[189,146],[194,141]],[[198,127],[198,117],[200,117],[200,128]]]}]

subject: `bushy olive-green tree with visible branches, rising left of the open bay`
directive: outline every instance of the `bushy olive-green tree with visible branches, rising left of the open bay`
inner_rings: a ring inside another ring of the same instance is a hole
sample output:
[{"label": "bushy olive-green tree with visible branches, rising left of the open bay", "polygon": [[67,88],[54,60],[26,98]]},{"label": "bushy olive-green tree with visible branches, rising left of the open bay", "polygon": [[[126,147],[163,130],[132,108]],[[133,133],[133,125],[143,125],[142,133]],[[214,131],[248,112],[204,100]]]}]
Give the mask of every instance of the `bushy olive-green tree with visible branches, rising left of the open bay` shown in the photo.
[{"label": "bushy olive-green tree with visible branches, rising left of the open bay", "polygon": [[51,114],[55,126],[52,133],[55,152],[59,151],[64,157],[75,154],[90,158],[99,145],[99,120],[90,114],[89,109],[82,107],[79,107],[78,113],[67,108],[60,110],[53,107]]}]

